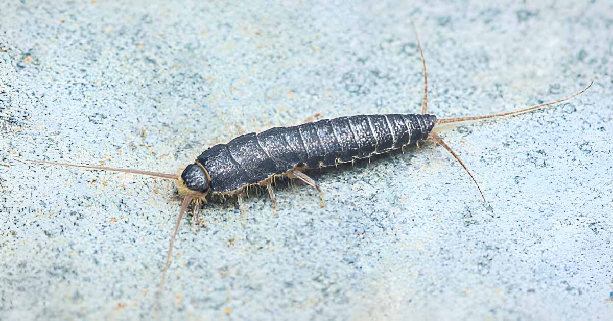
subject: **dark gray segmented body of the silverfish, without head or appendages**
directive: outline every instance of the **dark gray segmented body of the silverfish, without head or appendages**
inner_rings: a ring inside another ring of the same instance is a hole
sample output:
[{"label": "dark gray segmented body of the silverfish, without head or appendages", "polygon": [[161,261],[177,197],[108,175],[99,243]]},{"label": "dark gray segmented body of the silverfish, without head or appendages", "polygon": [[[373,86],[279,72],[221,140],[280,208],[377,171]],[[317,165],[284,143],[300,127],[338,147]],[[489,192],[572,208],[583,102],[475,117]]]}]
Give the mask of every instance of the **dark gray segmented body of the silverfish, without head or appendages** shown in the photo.
[{"label": "dark gray segmented body of the silverfish, without head or appendages", "polygon": [[357,115],[238,136],[205,150],[197,161],[207,169],[213,192],[262,182],[295,166],[322,168],[428,138],[432,114]]}]

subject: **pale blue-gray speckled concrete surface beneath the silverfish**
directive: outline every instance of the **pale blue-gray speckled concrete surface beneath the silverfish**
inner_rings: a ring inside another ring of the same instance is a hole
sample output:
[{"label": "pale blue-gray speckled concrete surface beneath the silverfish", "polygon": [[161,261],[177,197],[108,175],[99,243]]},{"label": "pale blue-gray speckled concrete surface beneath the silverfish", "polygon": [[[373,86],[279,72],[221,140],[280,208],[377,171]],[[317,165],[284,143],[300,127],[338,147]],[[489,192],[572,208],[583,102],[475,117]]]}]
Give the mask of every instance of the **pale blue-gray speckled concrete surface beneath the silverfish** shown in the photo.
[{"label": "pale blue-gray speckled concrete surface beneath the silverfish", "polygon": [[150,316],[181,199],[216,142],[326,117],[569,103],[209,205],[181,224],[162,319],[613,320],[610,1],[3,1],[0,319]]}]

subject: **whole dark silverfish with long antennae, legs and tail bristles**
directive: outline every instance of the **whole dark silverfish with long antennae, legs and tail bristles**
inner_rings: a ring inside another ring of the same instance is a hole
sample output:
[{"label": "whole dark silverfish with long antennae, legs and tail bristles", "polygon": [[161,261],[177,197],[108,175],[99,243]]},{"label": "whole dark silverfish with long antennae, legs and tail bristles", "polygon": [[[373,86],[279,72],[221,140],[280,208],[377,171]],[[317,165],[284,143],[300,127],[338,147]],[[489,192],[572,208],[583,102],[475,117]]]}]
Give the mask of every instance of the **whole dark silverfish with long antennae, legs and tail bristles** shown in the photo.
[{"label": "whole dark silverfish with long antennae, legs and tail bristles", "polygon": [[[587,87],[569,97],[506,113],[438,119],[435,115],[427,113],[427,70],[417,32],[415,32],[415,37],[421,54],[424,73],[424,95],[421,113],[419,114],[346,116],[307,122],[293,127],[275,127],[261,133],[249,133],[234,138],[227,144],[217,144],[210,147],[202,152],[194,163],[188,164],[178,175],[137,169],[56,163],[45,160],[29,161],[104,171],[129,172],[175,181],[178,193],[185,196],[185,199],[181,204],[175,229],[170,238],[166,263],[156,297],[157,304],[164,287],[166,272],[170,265],[173,244],[181,218],[190,205],[194,205],[192,207],[193,215],[197,217],[201,204],[213,199],[223,200],[235,196],[237,197],[238,207],[244,215],[243,199],[246,196],[246,191],[252,186],[261,186],[268,191],[273,204],[273,212],[276,213],[278,205],[272,184],[279,177],[287,177],[300,180],[314,188],[321,199],[321,207],[324,207],[324,193],[317,183],[308,176],[309,170],[338,166],[338,164],[343,163],[354,163],[357,160],[388,153],[392,150],[412,146],[419,147],[420,143],[429,138],[443,146],[460,163],[470,175],[483,201],[485,201],[485,196],[473,174],[438,133],[465,122],[515,116],[561,103],[582,94],[593,84],[593,82],[590,83]],[[196,222],[196,219],[194,219],[194,222]]]}]

